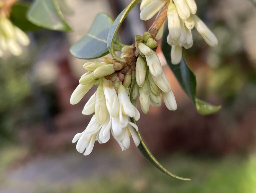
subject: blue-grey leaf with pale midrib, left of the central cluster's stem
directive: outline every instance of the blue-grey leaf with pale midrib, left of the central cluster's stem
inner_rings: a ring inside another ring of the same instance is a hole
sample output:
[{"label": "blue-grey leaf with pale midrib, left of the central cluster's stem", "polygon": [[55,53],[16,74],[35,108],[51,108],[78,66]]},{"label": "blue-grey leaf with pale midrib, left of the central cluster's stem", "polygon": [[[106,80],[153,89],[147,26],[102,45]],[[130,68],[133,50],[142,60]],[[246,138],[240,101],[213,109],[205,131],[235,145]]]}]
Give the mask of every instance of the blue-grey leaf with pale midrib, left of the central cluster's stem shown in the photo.
[{"label": "blue-grey leaf with pale midrib, left of the central cluster's stem", "polygon": [[112,24],[113,19],[110,16],[99,13],[88,33],[71,47],[71,54],[81,59],[94,59],[107,55],[109,53],[107,37]]}]

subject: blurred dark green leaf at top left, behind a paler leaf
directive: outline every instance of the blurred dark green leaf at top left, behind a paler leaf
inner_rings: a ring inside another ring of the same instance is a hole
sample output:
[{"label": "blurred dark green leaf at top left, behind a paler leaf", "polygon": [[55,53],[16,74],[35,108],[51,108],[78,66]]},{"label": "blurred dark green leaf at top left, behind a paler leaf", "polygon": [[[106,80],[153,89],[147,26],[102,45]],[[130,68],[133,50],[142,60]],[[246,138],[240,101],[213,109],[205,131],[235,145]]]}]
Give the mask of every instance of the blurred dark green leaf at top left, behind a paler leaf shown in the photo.
[{"label": "blurred dark green leaf at top left, behind a paler leaf", "polygon": [[12,10],[10,13],[10,19],[12,23],[20,28],[22,31],[35,31],[40,29],[40,27],[32,24],[26,18],[29,5],[30,3],[16,3],[12,6]]}]

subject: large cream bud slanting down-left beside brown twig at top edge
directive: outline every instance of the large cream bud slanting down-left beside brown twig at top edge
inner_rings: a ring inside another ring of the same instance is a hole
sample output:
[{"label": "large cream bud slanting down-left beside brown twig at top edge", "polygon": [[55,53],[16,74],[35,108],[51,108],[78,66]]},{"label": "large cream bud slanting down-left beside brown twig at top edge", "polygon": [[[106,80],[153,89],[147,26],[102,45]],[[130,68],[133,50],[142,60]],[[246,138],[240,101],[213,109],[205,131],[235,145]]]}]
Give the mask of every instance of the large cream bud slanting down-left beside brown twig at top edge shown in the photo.
[{"label": "large cream bud slanting down-left beside brown twig at top edge", "polygon": [[140,12],[140,19],[144,21],[151,19],[160,9],[164,7],[166,2],[166,0],[154,0]]}]

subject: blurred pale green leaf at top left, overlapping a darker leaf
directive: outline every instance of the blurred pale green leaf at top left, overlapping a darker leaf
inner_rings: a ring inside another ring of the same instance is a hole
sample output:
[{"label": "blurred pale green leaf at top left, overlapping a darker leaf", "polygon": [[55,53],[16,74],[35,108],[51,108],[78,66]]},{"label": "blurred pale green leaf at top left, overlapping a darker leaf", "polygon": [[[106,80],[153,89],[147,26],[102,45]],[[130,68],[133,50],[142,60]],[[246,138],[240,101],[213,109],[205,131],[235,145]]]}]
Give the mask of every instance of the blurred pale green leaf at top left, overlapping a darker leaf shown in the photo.
[{"label": "blurred pale green leaf at top left, overlapping a darker leaf", "polygon": [[50,30],[72,31],[57,0],[35,0],[27,13],[27,19],[37,26]]}]

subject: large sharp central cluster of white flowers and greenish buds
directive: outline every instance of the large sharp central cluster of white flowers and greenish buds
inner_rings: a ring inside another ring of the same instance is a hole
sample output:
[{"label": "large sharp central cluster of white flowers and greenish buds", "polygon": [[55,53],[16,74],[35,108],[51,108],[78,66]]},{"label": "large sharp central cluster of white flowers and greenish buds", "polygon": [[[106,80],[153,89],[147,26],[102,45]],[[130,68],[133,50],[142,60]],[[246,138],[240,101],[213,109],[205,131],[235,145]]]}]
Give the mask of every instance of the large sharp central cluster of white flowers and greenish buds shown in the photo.
[{"label": "large sharp central cluster of white flowers and greenish buds", "polygon": [[[98,88],[82,110],[84,115],[95,114],[86,129],[73,138],[78,152],[90,154],[95,141],[108,142],[110,133],[123,151],[130,146],[130,136],[138,146],[138,126],[131,121],[131,118],[140,118],[136,108],[137,97],[144,113],[148,113],[150,103],[161,105],[161,95],[168,109],[177,108],[170,84],[154,51],[156,47],[157,43],[151,35],[144,33],[143,37],[136,36],[136,44],[122,49],[121,57],[127,63],[104,57],[102,62],[83,65],[88,72],[80,78],[70,103],[77,104],[94,85]],[[135,61],[132,60],[134,58]],[[134,74],[136,81],[132,83]]]}]

